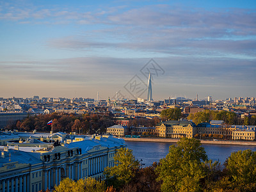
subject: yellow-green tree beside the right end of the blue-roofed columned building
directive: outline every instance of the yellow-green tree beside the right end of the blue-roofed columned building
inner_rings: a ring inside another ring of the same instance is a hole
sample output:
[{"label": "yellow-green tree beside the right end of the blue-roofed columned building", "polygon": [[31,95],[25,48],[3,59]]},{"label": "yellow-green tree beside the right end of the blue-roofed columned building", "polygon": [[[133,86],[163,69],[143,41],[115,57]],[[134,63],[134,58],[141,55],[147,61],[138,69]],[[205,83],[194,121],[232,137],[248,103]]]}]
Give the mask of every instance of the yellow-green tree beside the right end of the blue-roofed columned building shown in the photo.
[{"label": "yellow-green tree beside the right end of the blue-roofed columned building", "polygon": [[[111,177],[115,178],[113,186],[118,188],[127,184],[138,170],[140,163],[134,158],[132,150],[120,148],[114,156],[115,166],[105,169],[107,179],[111,182]],[[113,181],[113,180],[112,180]]]}]

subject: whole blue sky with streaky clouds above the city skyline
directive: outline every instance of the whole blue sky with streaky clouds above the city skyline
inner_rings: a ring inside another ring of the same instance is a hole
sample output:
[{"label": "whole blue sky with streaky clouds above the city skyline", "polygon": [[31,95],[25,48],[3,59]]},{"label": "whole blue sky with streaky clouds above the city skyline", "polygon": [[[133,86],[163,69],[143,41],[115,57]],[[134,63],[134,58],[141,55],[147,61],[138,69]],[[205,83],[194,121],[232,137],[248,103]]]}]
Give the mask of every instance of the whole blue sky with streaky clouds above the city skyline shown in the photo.
[{"label": "whole blue sky with streaky clouds above the city skyline", "polygon": [[256,97],[256,1],[1,1],[0,97]]}]

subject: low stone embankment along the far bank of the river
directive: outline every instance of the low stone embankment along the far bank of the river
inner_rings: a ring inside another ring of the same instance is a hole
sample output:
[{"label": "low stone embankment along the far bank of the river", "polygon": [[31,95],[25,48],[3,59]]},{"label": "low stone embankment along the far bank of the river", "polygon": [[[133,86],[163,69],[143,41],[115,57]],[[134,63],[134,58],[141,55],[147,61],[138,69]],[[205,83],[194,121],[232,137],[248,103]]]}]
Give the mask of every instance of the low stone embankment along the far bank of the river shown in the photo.
[{"label": "low stone embankment along the far bank of the river", "polygon": [[[141,142],[162,142],[162,143],[177,143],[179,140],[168,138],[123,138],[125,141],[141,141]],[[202,144],[214,145],[250,145],[256,146],[256,141],[213,141],[200,140]]]}]

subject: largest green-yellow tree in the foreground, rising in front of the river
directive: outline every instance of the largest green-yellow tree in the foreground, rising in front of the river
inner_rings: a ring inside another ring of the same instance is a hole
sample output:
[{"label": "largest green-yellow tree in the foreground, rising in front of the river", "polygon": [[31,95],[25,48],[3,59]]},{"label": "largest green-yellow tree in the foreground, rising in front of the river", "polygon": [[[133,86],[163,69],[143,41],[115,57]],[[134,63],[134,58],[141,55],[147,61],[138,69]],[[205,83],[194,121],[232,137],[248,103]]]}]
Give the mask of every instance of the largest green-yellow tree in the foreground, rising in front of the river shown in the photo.
[{"label": "largest green-yellow tree in the foreground, rising in front of the river", "polygon": [[207,161],[204,147],[194,138],[181,138],[177,147],[171,145],[167,156],[156,168],[161,191],[199,191],[205,173],[202,161]]}]

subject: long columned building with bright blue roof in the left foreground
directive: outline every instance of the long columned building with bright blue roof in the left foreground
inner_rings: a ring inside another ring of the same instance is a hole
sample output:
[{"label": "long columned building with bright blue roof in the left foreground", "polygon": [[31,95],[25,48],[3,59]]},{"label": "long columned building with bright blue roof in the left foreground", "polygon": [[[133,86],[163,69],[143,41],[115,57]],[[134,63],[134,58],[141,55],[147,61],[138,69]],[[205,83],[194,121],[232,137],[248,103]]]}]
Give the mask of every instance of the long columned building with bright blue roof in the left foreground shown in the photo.
[{"label": "long columned building with bright blue roof in the left foreground", "polygon": [[104,179],[104,168],[114,166],[113,156],[124,140],[92,136],[56,147],[0,147],[0,191],[52,189],[65,177]]}]

